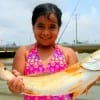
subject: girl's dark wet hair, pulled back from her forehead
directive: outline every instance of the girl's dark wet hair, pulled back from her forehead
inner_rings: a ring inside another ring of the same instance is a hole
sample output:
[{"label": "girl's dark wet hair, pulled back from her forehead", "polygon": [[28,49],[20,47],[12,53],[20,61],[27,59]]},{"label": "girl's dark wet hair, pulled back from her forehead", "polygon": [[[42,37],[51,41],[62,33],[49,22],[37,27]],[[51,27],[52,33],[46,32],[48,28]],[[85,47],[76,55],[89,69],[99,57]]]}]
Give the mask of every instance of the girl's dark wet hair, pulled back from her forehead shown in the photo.
[{"label": "girl's dark wet hair, pulled back from her forehead", "polygon": [[50,14],[55,14],[58,20],[58,26],[61,26],[61,10],[55,5],[51,3],[44,3],[36,6],[32,13],[32,25],[35,24],[37,18],[41,15],[46,15],[49,18]]}]

